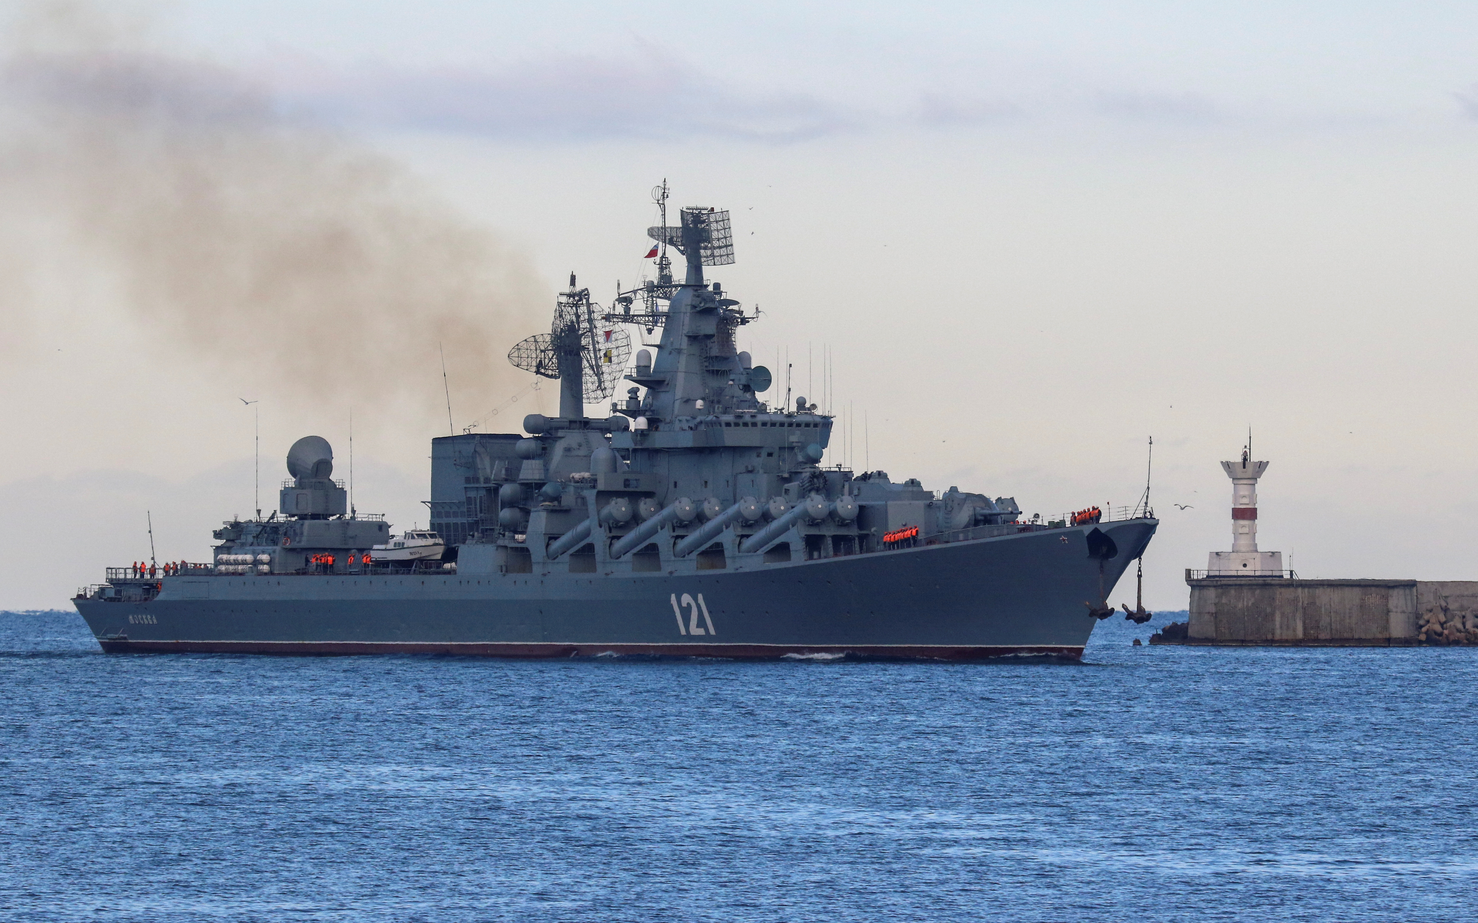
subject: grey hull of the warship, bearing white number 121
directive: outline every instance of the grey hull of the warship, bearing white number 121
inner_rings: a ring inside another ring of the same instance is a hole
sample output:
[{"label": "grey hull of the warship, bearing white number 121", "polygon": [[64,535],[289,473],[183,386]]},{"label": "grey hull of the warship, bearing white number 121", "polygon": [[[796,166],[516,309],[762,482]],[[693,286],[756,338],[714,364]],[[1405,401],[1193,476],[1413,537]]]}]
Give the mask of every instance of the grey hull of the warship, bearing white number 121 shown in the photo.
[{"label": "grey hull of the warship, bearing white number 121", "polygon": [[[1077,659],[1091,608],[1156,526],[1023,527],[675,574],[179,576],[149,580],[152,598],[75,604],[109,653]],[[1092,557],[1091,532],[1111,557]]]}]

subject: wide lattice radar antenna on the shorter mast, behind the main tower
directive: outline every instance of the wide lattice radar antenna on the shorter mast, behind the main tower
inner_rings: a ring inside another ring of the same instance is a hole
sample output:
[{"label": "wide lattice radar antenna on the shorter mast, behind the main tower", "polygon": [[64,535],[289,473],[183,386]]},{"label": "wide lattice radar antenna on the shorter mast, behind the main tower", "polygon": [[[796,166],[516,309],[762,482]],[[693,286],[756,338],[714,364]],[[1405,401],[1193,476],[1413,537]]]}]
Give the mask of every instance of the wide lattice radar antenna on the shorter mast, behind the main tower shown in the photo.
[{"label": "wide lattice radar antenna on the shorter mast, behind the main tower", "polygon": [[590,300],[588,288],[575,288],[575,273],[571,273],[569,291],[559,295],[550,332],[520,340],[508,350],[508,362],[525,372],[556,380],[563,368],[572,372],[578,368],[587,402],[610,397],[631,357],[631,334],[602,320],[603,313]]}]

